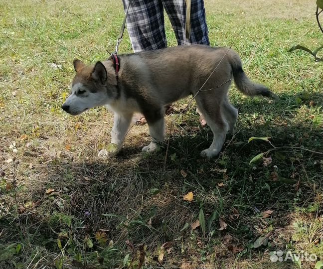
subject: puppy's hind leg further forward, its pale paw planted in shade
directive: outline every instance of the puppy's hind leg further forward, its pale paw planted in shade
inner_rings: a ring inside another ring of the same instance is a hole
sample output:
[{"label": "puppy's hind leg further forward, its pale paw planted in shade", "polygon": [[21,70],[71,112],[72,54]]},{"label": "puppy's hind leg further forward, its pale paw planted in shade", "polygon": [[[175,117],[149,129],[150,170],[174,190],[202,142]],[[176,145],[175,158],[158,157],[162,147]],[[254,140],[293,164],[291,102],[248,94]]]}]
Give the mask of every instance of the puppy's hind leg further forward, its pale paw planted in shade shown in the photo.
[{"label": "puppy's hind leg further forward, its pale paw planted in shade", "polygon": [[196,97],[196,104],[198,109],[205,117],[206,123],[213,132],[213,141],[209,148],[201,151],[202,157],[212,158],[219,154],[223,146],[225,135],[227,131],[227,123],[222,117],[222,105],[210,98]]}]

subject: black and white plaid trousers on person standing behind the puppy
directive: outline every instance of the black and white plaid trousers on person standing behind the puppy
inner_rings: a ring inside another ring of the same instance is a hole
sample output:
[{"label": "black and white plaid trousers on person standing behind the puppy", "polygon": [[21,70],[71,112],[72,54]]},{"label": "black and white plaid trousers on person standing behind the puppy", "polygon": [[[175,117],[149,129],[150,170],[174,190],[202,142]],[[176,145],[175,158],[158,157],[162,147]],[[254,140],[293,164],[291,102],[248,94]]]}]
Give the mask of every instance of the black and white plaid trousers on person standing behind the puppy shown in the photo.
[{"label": "black and white plaid trousers on person standing behind the puppy", "polygon": [[[123,0],[127,10],[129,0]],[[185,0],[132,0],[127,29],[135,52],[167,47],[163,9],[165,9],[178,45],[209,45],[203,0],[191,0],[191,33],[185,37]]]}]

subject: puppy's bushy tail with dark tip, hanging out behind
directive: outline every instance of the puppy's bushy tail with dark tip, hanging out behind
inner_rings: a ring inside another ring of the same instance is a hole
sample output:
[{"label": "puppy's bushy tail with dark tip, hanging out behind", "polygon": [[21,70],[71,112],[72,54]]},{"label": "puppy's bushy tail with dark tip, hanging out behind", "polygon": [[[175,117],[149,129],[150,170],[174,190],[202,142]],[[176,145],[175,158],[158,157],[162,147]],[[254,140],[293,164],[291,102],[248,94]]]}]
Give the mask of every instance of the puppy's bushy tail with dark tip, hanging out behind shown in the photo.
[{"label": "puppy's bushy tail with dark tip, hanging out behind", "polygon": [[248,96],[262,95],[278,99],[278,96],[271,92],[266,86],[254,83],[247,77],[242,69],[241,59],[235,51],[230,50],[228,56],[232,68],[233,79],[240,92]]}]

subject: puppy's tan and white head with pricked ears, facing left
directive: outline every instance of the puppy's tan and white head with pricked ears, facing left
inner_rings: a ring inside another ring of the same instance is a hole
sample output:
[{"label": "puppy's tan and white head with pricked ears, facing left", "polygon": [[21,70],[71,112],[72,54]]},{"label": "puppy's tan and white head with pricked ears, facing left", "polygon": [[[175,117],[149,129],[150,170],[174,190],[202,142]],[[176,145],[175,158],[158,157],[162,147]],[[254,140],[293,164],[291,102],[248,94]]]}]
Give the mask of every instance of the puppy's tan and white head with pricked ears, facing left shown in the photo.
[{"label": "puppy's tan and white head with pricked ears, facing left", "polygon": [[106,66],[97,62],[86,66],[75,59],[76,75],[72,81],[72,93],[62,105],[71,115],[78,115],[90,108],[108,105],[117,98],[117,79],[112,63]]}]

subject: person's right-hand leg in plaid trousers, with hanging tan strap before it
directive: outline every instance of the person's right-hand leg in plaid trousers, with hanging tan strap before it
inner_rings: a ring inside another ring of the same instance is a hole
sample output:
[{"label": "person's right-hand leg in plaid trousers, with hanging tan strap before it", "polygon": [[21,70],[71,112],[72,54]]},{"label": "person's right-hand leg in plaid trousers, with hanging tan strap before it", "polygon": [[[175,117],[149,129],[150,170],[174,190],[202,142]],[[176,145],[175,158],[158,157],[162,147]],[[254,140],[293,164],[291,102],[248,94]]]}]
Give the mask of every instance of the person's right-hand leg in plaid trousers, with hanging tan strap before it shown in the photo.
[{"label": "person's right-hand leg in plaid trousers, with hanging tan strap before it", "polygon": [[174,29],[178,45],[210,44],[203,0],[191,0],[189,39],[185,37],[185,0],[162,0],[162,4]]}]

